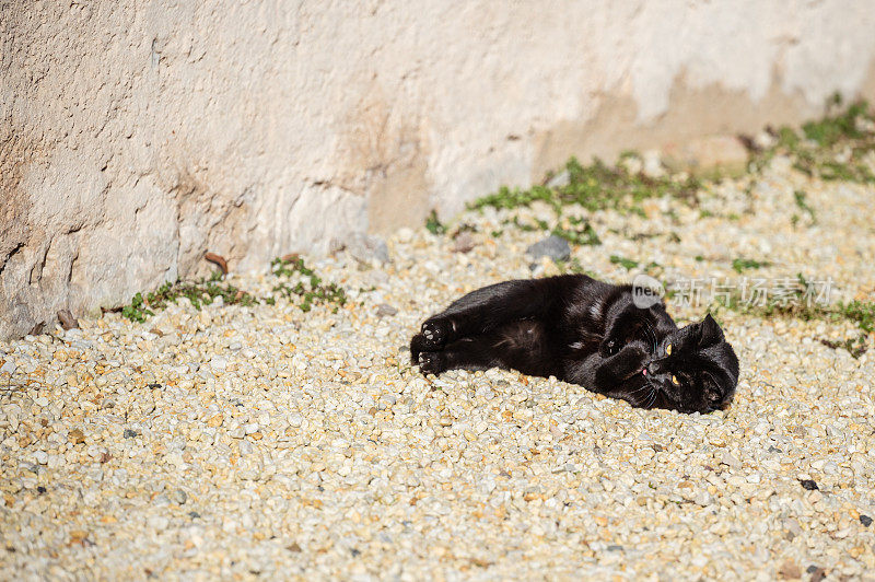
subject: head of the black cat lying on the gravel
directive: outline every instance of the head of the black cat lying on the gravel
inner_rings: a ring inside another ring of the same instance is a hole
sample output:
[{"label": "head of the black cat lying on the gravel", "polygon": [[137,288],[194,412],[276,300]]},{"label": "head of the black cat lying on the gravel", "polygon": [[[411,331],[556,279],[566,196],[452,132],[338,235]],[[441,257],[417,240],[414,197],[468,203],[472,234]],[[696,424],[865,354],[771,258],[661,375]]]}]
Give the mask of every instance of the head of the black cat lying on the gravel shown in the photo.
[{"label": "head of the black cat lying on the gravel", "polygon": [[709,313],[664,339],[643,373],[657,392],[654,407],[710,412],[732,400],[738,358]]}]

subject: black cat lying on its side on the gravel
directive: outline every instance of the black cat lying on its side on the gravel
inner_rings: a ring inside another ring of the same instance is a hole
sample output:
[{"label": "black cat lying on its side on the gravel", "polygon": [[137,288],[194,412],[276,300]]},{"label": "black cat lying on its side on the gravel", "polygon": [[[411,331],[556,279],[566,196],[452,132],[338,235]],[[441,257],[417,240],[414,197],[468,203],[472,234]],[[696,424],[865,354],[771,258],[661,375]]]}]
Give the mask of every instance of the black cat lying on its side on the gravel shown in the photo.
[{"label": "black cat lying on its side on the gravel", "polygon": [[[639,301],[639,304],[641,302]],[[423,373],[512,368],[641,408],[709,412],[732,400],[738,358],[709,314],[678,328],[661,301],[584,275],[505,281],[429,317],[410,341]]]}]

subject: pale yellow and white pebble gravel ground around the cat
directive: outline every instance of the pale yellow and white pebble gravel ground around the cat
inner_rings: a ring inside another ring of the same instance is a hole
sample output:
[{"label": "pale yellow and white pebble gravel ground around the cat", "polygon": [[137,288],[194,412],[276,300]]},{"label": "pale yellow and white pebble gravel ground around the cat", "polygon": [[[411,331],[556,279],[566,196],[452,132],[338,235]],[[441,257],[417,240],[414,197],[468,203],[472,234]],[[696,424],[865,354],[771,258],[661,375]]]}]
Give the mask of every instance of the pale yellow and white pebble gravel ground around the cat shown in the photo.
[{"label": "pale yellow and white pebble gravel ground around the cat", "polygon": [[[710,188],[707,218],[669,199],[594,213],[603,244],[572,256],[614,281],[638,272],[615,254],[665,280],[738,278],[732,260],[756,258],[771,265],[745,275],[875,299],[872,187],[783,159],[745,186]],[[816,220],[794,228],[798,189]],[[820,341],[858,336],[851,323],[720,314],[742,379],[708,416],[411,369],[424,316],[557,271],[530,265],[544,234],[508,216],[465,214],[464,244],[402,230],[383,266],[314,260],[352,300],[337,313],[184,300],[144,324],[107,314],[0,344],[0,579],[875,580],[875,349]]]}]

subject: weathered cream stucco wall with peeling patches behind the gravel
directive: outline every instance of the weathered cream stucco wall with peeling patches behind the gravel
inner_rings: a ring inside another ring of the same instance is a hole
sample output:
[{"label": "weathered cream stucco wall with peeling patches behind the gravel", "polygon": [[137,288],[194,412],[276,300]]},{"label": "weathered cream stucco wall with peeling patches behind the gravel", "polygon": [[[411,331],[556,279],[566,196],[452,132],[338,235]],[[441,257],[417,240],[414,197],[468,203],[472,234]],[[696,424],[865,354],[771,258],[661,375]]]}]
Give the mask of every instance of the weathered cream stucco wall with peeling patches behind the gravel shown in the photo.
[{"label": "weathered cream stucco wall with peeling patches behind the gravel", "polygon": [[0,0],[0,337],[875,96],[875,3]]}]

